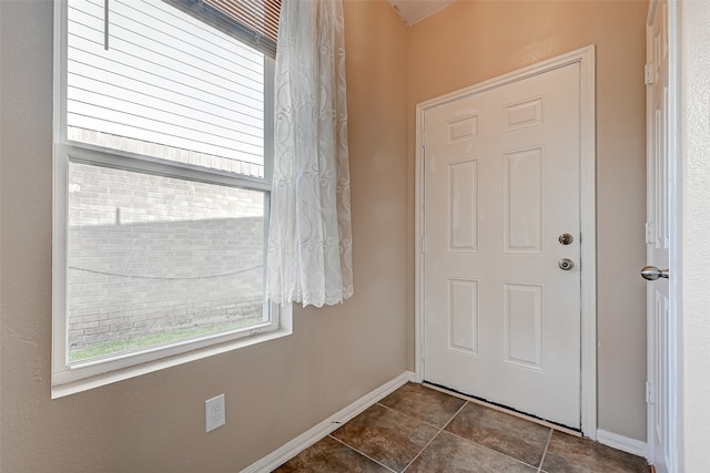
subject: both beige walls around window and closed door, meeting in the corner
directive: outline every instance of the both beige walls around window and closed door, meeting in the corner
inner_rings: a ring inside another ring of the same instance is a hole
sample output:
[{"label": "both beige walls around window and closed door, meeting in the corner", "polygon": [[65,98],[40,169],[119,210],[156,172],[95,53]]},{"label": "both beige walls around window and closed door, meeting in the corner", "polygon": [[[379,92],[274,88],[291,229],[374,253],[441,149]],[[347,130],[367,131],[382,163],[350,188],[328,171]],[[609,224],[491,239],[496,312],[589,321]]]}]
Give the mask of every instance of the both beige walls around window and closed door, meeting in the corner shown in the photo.
[{"label": "both beige walls around window and closed door, meeting in the corner", "polygon": [[[590,43],[599,426],[643,439],[645,11],[459,0],[407,29],[384,1],[346,0],[354,298],[296,309],[285,339],[51,401],[52,8],[0,1],[0,470],[234,472],[413,369],[415,103]],[[227,425],[205,434],[221,392]]]}]

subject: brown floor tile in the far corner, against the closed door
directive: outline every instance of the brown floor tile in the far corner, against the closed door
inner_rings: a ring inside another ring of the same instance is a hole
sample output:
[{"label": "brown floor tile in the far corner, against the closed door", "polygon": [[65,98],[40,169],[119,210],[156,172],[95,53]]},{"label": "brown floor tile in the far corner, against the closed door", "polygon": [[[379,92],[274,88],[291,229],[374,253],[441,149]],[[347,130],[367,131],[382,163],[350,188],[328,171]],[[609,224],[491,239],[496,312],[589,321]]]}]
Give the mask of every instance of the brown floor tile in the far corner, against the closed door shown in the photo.
[{"label": "brown floor tile in the far corner, against the closed door", "polygon": [[440,391],[417,383],[406,383],[379,401],[381,404],[443,428],[466,403]]}]

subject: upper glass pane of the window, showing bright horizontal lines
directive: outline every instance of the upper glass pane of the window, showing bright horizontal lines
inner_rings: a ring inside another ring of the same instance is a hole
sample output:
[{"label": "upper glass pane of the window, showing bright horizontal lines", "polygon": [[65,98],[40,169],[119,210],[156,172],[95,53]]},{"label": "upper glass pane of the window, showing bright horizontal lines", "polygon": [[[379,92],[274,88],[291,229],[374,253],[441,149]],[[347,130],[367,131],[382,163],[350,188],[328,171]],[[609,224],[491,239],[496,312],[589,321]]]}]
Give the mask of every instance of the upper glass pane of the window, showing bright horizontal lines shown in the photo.
[{"label": "upper glass pane of the window, showing bright horizontal lines", "polygon": [[264,54],[163,1],[108,4],[69,2],[67,137],[263,177]]}]

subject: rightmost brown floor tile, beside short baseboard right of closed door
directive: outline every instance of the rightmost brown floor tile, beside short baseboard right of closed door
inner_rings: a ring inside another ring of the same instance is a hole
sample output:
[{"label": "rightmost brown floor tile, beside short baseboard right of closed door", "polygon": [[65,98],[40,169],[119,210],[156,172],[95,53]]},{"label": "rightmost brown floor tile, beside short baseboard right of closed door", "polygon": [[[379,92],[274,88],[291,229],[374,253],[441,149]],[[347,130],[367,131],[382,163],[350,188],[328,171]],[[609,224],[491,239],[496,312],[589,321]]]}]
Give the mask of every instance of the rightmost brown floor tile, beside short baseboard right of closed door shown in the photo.
[{"label": "rightmost brown floor tile, beside short baseboard right of closed door", "polygon": [[547,448],[542,470],[549,473],[648,473],[649,467],[640,456],[556,431]]}]

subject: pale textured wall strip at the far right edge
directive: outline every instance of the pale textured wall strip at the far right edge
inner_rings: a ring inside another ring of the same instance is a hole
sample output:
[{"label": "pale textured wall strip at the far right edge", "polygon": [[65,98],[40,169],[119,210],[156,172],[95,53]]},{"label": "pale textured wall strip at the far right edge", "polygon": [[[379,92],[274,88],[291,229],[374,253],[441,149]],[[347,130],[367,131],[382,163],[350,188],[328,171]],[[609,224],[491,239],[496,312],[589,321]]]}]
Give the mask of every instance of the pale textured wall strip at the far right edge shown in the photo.
[{"label": "pale textured wall strip at the far right edge", "polygon": [[[678,9],[678,124],[680,176],[679,391],[680,467],[710,471],[710,2],[680,1]],[[671,90],[671,95],[673,91]],[[672,258],[672,256],[671,256]],[[671,263],[672,264],[672,263]]]}]

